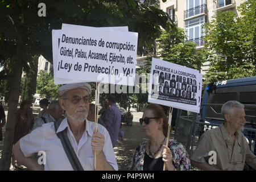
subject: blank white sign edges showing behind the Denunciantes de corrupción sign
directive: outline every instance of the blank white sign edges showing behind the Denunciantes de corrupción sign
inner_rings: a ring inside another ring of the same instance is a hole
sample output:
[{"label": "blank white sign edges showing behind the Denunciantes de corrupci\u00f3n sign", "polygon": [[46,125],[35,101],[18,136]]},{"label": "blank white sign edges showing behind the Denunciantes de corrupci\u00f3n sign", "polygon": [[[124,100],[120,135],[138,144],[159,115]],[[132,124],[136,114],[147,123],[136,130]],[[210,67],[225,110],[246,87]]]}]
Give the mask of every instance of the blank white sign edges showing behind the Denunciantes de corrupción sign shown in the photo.
[{"label": "blank white sign edges showing behind the Denunciantes de corrupci\u00f3n sign", "polygon": [[[72,28],[72,26],[76,26],[73,24],[64,24],[64,28]],[[81,28],[101,28],[104,30],[112,30],[112,31],[124,31],[128,32],[128,27],[86,27],[86,26],[80,26]],[[61,30],[52,30],[52,56],[53,56],[53,75],[54,75],[54,84],[71,84],[71,83],[76,83],[76,82],[88,82],[85,80],[69,80],[65,78],[59,78],[56,77],[56,68],[57,68],[57,57],[58,57],[58,50],[59,50],[59,41],[61,37]]]}]

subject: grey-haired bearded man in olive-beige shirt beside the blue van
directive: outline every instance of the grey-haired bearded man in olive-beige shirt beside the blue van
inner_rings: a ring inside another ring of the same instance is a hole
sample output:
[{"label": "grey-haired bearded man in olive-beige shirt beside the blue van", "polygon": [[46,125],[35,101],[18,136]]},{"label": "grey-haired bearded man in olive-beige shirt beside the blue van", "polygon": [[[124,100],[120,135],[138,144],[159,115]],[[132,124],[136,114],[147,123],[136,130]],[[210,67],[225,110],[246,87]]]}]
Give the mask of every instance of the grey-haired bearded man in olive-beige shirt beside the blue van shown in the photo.
[{"label": "grey-haired bearded man in olive-beige shirt beside the blue van", "polygon": [[[225,122],[215,129],[207,130],[201,136],[191,163],[207,171],[242,171],[245,163],[256,169],[256,156],[250,151],[243,135],[245,106],[238,101],[228,101],[221,107]],[[216,161],[210,160],[212,153]],[[209,160],[211,162],[209,162]]]}]

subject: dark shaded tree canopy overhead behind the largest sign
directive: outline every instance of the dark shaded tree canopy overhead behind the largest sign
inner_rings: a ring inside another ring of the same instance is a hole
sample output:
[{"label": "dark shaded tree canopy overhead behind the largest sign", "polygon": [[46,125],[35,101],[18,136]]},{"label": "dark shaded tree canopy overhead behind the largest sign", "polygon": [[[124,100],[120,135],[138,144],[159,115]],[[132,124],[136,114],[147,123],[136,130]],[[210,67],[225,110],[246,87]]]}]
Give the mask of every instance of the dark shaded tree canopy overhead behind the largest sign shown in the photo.
[{"label": "dark shaded tree canopy overhead behind the largest sign", "polygon": [[[0,3],[0,63],[14,58],[17,43],[22,43],[23,67],[30,68],[31,57],[43,55],[52,63],[51,30],[62,23],[84,26],[129,26],[139,32],[138,55],[155,47],[160,27],[171,30],[169,16],[156,8],[158,0],[147,1],[44,1],[46,17],[38,16],[40,1],[2,1]],[[28,63],[29,64],[28,64]],[[40,83],[39,83],[40,84]],[[24,88],[25,89],[25,88]]]}]

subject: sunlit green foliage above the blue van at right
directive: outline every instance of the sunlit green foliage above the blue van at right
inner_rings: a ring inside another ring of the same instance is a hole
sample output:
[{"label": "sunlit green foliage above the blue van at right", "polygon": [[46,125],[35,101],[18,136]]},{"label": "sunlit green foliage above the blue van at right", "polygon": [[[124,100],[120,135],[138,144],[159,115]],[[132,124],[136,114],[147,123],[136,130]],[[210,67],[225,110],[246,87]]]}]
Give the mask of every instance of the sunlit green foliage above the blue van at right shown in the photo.
[{"label": "sunlit green foliage above the blue van at right", "polygon": [[226,57],[210,63],[212,73],[205,75],[207,80],[215,73],[221,73],[219,80],[256,75],[255,0],[242,3],[238,11],[241,17],[233,11],[217,11],[212,22],[205,24],[205,47]]}]

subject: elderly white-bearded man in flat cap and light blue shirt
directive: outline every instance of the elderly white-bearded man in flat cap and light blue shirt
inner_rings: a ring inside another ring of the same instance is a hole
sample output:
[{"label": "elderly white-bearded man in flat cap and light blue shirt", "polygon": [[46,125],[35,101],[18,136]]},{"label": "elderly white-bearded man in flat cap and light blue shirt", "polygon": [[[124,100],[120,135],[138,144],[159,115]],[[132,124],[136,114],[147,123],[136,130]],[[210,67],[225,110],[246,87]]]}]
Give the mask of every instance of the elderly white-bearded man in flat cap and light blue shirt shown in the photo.
[{"label": "elderly white-bearded man in flat cap and light blue shirt", "polygon": [[[82,169],[94,170],[96,154],[96,170],[117,170],[117,161],[108,131],[98,125],[98,131],[95,133],[94,123],[86,119],[89,111],[90,85],[63,85],[59,88],[59,93],[60,106],[65,110],[67,117],[61,121],[57,130],[55,124],[50,122],[21,138],[13,148],[16,160],[31,170],[73,170],[77,163],[70,162],[69,154],[64,150],[63,139],[59,138],[59,135],[66,135]],[[44,154],[44,168],[32,155],[39,151],[43,151]]]}]

